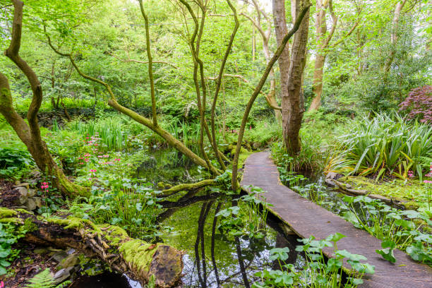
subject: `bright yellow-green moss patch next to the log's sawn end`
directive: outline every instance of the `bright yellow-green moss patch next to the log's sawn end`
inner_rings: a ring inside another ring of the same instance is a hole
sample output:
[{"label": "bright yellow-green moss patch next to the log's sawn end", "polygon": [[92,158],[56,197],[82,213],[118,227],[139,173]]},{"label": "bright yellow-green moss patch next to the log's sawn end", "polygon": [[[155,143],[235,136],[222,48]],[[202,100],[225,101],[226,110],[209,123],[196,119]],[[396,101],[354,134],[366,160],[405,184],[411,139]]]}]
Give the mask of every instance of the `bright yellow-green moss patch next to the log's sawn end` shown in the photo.
[{"label": "bright yellow-green moss patch next to the log's sawn end", "polygon": [[131,265],[133,269],[140,272],[148,272],[153,255],[159,245],[160,244],[149,244],[134,239],[121,244],[119,251],[126,263]]}]

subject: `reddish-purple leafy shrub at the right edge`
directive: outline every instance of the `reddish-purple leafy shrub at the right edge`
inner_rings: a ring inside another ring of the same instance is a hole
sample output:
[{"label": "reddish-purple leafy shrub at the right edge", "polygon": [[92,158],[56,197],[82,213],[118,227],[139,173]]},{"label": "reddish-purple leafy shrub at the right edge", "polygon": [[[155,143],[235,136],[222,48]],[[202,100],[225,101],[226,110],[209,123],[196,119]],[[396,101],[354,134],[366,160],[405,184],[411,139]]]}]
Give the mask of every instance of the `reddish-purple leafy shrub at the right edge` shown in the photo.
[{"label": "reddish-purple leafy shrub at the right edge", "polygon": [[412,89],[399,107],[399,111],[408,112],[408,119],[432,125],[432,85]]}]

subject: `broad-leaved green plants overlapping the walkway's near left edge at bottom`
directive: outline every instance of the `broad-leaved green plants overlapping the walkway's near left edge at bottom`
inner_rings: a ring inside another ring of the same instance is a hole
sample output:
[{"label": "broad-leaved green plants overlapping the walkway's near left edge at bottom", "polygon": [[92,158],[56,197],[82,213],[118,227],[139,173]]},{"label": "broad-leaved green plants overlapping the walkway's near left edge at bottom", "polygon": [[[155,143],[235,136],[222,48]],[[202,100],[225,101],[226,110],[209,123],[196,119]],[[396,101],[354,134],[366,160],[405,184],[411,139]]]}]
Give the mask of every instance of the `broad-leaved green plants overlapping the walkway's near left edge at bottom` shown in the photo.
[{"label": "broad-leaved green plants overlapping the walkway's near left edge at bottom", "polygon": [[[361,263],[367,260],[359,254],[352,254],[346,250],[337,249],[337,241],[344,235],[332,234],[320,241],[313,236],[308,239],[301,239],[304,245],[296,247],[296,251],[304,252],[306,263],[301,270],[296,270],[294,265],[287,264],[289,248],[273,248],[270,250],[270,260],[277,261],[280,270],[263,270],[257,272],[256,276],[261,282],[253,283],[253,288],[272,287],[357,287],[363,283],[361,280],[364,274],[373,274],[375,267],[368,263]],[[334,258],[326,260],[323,248],[332,247]],[[347,261],[355,277],[347,277],[344,283],[342,277],[342,263]]]}]

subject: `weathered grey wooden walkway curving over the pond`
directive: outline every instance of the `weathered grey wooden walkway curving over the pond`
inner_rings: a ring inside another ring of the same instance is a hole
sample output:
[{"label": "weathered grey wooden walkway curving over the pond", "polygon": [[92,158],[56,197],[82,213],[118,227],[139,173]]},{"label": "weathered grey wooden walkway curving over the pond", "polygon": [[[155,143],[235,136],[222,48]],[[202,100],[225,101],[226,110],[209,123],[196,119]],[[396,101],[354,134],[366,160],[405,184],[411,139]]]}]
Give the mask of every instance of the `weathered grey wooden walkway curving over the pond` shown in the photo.
[{"label": "weathered grey wooden walkway curving over the pond", "polygon": [[[394,251],[395,264],[380,258],[375,252],[381,248],[380,240],[284,186],[269,156],[270,152],[258,152],[248,157],[241,185],[263,188],[266,201],[273,205],[270,210],[303,238],[313,235],[324,239],[335,232],[344,234],[346,237],[337,242],[337,248],[364,255],[368,258],[366,262],[375,266],[375,274],[365,277],[361,287],[432,288],[432,268],[415,263],[399,250]],[[330,256],[330,251],[325,252]]]}]

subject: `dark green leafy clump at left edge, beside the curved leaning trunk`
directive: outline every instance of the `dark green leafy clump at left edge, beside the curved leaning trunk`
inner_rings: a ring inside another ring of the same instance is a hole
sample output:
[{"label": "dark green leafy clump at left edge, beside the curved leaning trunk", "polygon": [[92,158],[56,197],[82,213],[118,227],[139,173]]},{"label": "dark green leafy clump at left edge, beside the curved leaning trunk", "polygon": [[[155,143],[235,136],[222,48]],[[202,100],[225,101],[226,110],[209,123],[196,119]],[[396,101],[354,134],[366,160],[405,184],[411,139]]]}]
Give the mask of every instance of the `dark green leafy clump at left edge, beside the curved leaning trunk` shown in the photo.
[{"label": "dark green leafy clump at left edge, beside the curved leaning trunk", "polygon": [[19,179],[32,165],[34,162],[28,150],[0,148],[0,176]]}]

